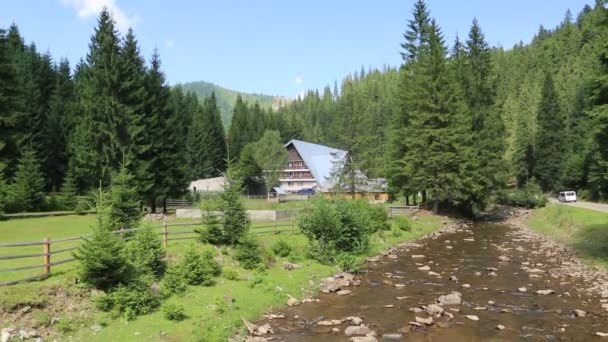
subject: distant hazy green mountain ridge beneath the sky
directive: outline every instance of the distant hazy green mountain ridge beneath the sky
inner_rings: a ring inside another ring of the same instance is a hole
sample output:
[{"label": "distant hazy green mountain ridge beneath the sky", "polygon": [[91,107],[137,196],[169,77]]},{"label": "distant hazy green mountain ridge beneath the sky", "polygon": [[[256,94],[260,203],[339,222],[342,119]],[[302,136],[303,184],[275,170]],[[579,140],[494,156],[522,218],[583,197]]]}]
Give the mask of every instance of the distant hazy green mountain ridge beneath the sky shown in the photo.
[{"label": "distant hazy green mountain ridge beneath the sky", "polygon": [[249,104],[254,104],[257,101],[263,108],[272,108],[274,110],[278,109],[281,105],[288,104],[292,101],[283,96],[239,92],[205,81],[188,82],[178,85],[181,86],[184,91],[194,92],[199,97],[200,101],[215,92],[217,104],[222,112],[222,122],[226,128],[230,125],[232,110],[234,109],[234,103],[236,102],[236,97],[238,95],[241,95],[243,100]]}]

